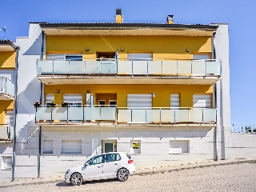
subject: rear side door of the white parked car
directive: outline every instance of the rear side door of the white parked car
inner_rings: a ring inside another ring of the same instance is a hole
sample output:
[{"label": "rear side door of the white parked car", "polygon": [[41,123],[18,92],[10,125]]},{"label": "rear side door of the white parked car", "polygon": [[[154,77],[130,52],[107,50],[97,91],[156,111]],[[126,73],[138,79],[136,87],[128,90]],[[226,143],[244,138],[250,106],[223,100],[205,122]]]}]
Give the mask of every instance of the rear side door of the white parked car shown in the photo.
[{"label": "rear side door of the white parked car", "polygon": [[121,163],[119,154],[106,154],[103,166],[103,174],[105,178],[114,178]]}]

